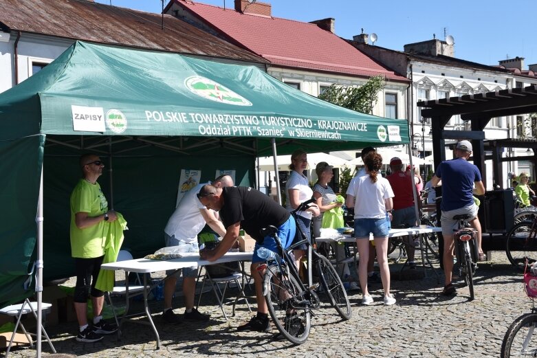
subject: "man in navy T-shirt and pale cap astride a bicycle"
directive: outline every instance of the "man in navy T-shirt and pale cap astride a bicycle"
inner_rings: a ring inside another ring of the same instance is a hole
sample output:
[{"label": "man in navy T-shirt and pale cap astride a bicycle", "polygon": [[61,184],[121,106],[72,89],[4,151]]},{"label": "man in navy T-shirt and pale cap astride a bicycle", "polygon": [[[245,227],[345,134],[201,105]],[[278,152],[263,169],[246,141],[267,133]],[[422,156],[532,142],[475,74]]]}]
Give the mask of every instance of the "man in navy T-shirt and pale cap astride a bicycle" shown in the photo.
[{"label": "man in navy T-shirt and pale cap astride a bicycle", "polygon": [[[481,249],[481,225],[477,219],[478,207],[474,203],[473,194],[485,194],[485,186],[481,181],[481,172],[468,163],[468,157],[472,154],[472,144],[468,140],[461,140],[454,150],[454,159],[442,161],[437,172],[431,179],[432,186],[442,181],[441,223],[443,236],[443,272],[446,276],[442,295],[453,295],[455,287],[451,283],[453,270],[453,229],[457,221],[453,216],[470,214],[470,225],[477,230],[477,247],[480,259],[483,255]],[[475,188],[474,188],[475,186]]]}]

